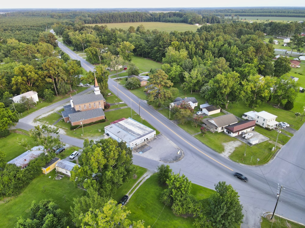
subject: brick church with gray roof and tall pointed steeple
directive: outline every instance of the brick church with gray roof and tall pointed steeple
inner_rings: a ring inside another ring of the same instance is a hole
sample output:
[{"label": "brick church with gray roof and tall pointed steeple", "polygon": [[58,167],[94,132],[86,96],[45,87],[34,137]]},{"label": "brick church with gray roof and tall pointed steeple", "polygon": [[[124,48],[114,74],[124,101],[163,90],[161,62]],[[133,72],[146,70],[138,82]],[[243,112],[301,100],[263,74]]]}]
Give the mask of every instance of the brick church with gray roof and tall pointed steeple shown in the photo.
[{"label": "brick church with gray roof and tall pointed steeple", "polygon": [[105,119],[103,111],[106,104],[104,96],[101,94],[99,85],[95,78],[94,91],[84,95],[74,95],[70,98],[70,105],[65,105],[61,112],[66,123],[72,126],[85,123],[92,123],[100,119]]}]

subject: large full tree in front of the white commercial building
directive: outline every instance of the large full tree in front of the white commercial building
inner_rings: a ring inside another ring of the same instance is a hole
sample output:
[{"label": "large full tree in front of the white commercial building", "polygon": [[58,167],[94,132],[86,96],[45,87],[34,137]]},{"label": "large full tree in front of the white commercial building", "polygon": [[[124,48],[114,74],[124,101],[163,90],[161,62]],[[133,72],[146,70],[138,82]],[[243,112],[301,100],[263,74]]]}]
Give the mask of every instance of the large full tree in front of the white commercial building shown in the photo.
[{"label": "large full tree in front of the white commercial building", "polygon": [[70,180],[76,186],[92,187],[102,197],[111,197],[134,174],[131,149],[123,141],[85,140],[80,159],[81,167],[74,167]]}]

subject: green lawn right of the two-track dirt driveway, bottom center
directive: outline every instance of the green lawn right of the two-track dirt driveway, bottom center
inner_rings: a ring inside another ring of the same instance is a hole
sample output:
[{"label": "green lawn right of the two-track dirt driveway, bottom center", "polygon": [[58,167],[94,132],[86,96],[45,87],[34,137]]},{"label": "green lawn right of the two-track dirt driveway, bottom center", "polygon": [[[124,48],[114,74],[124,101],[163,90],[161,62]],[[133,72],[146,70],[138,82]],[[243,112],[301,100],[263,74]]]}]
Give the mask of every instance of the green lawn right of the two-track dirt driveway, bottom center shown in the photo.
[{"label": "green lawn right of the two-track dirt driveway, bottom center", "polygon": [[[214,191],[198,185],[192,184],[192,194],[196,194],[197,199],[207,198]],[[157,184],[156,174],[148,178],[132,195],[126,204],[126,208],[131,211],[129,219],[132,221],[144,220],[145,226],[155,227],[194,227],[192,217],[184,218],[175,216],[170,207],[160,202],[160,194],[165,187]]]}]

